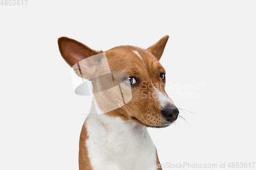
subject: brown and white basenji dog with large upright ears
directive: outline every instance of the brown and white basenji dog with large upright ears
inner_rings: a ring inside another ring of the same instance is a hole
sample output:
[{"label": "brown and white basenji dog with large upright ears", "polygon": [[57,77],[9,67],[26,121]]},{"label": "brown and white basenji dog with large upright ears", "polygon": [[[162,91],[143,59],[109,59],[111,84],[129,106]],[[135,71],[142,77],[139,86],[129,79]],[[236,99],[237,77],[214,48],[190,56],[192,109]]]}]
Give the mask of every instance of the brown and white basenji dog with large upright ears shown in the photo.
[{"label": "brown and white basenji dog with large upright ears", "polygon": [[[63,59],[76,75],[92,82],[94,94],[100,93],[94,96],[90,114],[82,126],[80,170],[162,169],[147,128],[167,127],[179,114],[164,90],[165,69],[159,63],[167,40],[166,35],[147,49],[122,45],[102,52],[74,39],[58,39]],[[117,72],[124,73],[117,76],[119,84],[114,81]],[[109,79],[114,82],[113,88],[101,84]],[[117,84],[121,97],[113,94]],[[126,94],[130,91],[128,99]]]}]

